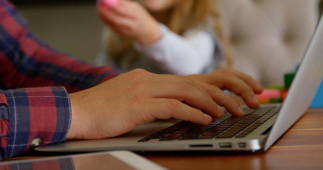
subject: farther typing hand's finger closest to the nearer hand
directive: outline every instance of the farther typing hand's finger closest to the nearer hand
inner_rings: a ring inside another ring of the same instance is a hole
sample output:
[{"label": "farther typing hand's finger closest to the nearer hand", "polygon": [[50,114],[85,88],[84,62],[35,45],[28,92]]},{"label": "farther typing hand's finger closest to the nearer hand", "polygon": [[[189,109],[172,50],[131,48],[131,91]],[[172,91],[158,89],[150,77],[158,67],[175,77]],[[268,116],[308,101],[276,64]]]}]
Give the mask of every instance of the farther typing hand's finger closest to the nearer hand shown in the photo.
[{"label": "farther typing hand's finger closest to the nearer hand", "polygon": [[199,85],[211,95],[212,99],[220,106],[225,107],[233,116],[245,116],[245,111],[239,103],[224,91],[208,83],[200,82]]}]

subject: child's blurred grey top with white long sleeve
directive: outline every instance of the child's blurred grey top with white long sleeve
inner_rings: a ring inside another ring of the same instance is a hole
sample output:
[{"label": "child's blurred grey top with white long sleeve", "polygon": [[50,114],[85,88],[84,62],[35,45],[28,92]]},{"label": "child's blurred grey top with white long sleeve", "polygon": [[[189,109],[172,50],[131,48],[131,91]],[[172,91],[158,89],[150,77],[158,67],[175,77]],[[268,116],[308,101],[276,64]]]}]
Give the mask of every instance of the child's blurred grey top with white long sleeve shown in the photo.
[{"label": "child's blurred grey top with white long sleeve", "polygon": [[[192,29],[180,36],[163,24],[160,24],[160,29],[162,37],[157,42],[147,46],[134,42],[134,49],[140,53],[137,61],[130,62],[133,52],[128,52],[116,63],[114,59],[106,56],[107,45],[102,45],[95,63],[114,65],[125,72],[143,68],[153,73],[187,75],[213,71],[223,58],[219,42],[206,30]],[[106,44],[105,40],[102,44]]]}]

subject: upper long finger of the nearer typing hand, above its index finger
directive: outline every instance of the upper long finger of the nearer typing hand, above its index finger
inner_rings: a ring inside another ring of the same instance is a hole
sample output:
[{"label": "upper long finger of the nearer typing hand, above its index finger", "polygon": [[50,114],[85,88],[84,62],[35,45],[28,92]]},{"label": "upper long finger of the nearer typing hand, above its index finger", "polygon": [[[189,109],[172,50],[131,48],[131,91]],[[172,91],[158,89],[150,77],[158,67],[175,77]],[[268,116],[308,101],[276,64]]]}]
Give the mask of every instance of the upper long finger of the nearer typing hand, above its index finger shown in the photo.
[{"label": "upper long finger of the nearer typing hand, above its index finger", "polygon": [[[201,91],[185,82],[153,83],[148,89],[152,98],[176,99],[188,105],[202,109],[213,118],[221,118],[223,109],[212,98],[208,98]],[[204,91],[204,90],[203,90]]]}]

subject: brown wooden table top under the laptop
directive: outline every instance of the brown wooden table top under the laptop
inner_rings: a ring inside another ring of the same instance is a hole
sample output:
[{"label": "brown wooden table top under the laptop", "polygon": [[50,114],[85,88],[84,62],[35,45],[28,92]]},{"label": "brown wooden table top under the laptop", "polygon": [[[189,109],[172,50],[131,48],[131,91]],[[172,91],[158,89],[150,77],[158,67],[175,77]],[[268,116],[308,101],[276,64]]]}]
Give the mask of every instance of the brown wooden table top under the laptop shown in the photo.
[{"label": "brown wooden table top under the laptop", "polygon": [[[6,160],[54,156],[30,152]],[[170,169],[323,169],[323,109],[309,110],[267,152],[138,153]],[[55,154],[57,155],[57,154]]]}]

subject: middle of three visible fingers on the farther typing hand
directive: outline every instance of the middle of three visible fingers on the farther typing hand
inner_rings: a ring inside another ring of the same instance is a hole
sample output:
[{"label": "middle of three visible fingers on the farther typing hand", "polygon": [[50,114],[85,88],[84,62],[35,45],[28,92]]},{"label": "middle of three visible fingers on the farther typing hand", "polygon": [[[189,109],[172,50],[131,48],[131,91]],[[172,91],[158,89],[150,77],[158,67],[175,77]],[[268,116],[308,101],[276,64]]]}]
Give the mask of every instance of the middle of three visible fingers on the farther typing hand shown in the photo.
[{"label": "middle of three visible fingers on the farther typing hand", "polygon": [[245,81],[232,75],[225,78],[224,86],[226,89],[241,96],[248,107],[250,108],[259,107],[259,103],[255,97],[255,93],[253,89],[248,84],[246,84]]}]

